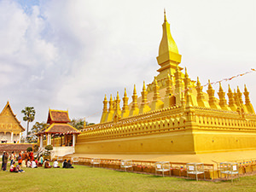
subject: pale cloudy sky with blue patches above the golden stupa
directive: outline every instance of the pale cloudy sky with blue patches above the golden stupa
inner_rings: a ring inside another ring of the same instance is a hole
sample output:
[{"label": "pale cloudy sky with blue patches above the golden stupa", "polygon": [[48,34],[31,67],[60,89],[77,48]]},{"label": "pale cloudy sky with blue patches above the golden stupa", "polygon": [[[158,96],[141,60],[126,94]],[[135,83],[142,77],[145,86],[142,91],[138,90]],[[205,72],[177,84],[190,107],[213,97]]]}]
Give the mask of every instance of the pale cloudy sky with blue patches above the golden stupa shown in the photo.
[{"label": "pale cloudy sky with blue patches above the golden stupa", "polygon": [[[191,79],[206,84],[255,68],[253,0],[2,0],[0,107],[9,100],[21,121],[33,106],[35,122],[46,121],[49,108],[99,122],[105,94],[123,96],[126,87],[131,102],[133,84],[139,93],[158,74],[164,8]],[[229,82],[247,84],[254,107],[255,75]]]}]

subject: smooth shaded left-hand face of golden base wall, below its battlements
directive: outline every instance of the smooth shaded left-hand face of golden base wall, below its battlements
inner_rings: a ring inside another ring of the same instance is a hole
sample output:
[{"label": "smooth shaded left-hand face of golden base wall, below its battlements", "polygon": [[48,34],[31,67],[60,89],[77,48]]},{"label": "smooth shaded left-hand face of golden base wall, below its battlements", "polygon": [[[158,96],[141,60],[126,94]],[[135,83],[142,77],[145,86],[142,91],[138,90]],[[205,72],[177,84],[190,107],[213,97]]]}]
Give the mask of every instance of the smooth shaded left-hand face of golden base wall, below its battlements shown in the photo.
[{"label": "smooth shaded left-hand face of golden base wall, below its battlements", "polygon": [[195,154],[191,131],[96,142],[86,142],[79,137],[75,151],[79,154]]}]

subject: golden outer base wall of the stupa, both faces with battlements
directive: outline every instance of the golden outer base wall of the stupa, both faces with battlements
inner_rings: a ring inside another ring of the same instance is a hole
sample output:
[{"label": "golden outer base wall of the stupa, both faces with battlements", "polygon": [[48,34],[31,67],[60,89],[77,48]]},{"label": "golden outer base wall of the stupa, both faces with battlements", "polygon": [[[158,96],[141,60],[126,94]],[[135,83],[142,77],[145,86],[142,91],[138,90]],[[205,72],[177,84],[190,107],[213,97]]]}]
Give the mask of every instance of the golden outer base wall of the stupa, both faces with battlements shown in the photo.
[{"label": "golden outer base wall of the stupa, both faces with battlements", "polygon": [[76,153],[201,154],[256,149],[255,115],[174,107],[91,125],[79,135]]}]

